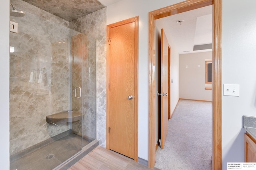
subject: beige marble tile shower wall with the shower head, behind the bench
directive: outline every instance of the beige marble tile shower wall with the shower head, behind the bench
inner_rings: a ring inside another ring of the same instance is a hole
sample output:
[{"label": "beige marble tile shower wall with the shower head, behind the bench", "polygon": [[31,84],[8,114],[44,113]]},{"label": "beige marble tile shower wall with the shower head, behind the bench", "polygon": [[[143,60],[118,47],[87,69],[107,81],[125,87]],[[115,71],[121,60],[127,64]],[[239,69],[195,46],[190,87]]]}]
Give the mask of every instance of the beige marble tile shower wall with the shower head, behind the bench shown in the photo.
[{"label": "beige marble tile shower wall with the shower head, behind the bench", "polygon": [[69,106],[69,23],[22,0],[18,33],[10,33],[10,154],[68,130],[46,115]]}]

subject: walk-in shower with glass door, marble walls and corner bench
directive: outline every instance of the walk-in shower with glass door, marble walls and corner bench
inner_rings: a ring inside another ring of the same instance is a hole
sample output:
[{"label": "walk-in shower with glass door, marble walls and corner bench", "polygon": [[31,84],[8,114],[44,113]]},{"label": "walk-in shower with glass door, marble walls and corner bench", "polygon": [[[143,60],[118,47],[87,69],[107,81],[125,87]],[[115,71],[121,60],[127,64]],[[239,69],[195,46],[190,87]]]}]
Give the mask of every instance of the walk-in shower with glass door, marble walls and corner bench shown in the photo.
[{"label": "walk-in shower with glass door, marble walls and corner bench", "polygon": [[59,168],[97,143],[96,41],[27,2],[11,3],[10,170]]}]

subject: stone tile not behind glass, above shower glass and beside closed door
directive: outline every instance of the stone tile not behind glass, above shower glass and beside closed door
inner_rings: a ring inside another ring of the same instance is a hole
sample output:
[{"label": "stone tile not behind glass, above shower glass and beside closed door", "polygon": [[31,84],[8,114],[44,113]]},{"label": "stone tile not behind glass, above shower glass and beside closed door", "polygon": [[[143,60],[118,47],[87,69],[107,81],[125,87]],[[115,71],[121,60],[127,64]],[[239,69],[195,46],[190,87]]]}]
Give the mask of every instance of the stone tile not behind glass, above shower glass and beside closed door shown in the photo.
[{"label": "stone tile not behind glass, above shower glass and beside closed door", "polygon": [[106,147],[106,8],[71,21],[70,28],[96,39],[96,131],[99,145]]}]

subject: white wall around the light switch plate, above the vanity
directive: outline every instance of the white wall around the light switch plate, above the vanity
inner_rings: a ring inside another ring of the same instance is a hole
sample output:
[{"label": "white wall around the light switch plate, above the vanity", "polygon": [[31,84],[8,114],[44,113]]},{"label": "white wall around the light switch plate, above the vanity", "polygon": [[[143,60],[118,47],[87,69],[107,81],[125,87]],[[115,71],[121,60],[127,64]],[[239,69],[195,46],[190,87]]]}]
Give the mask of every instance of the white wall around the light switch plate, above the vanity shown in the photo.
[{"label": "white wall around the light switch plate, above the vanity", "polygon": [[242,115],[256,116],[256,1],[223,0],[222,83],[240,84],[240,96],[222,96],[222,159],[244,162]]}]

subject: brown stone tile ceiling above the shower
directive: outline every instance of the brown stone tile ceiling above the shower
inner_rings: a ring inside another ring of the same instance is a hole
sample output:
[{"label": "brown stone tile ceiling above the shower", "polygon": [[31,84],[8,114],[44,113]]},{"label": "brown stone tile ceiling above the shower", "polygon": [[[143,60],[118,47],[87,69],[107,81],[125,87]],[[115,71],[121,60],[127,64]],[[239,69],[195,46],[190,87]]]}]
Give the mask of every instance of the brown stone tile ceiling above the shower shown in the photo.
[{"label": "brown stone tile ceiling above the shower", "polygon": [[73,21],[92,12],[98,11],[103,6],[98,0],[24,0],[38,8],[54,14],[67,21]]}]

